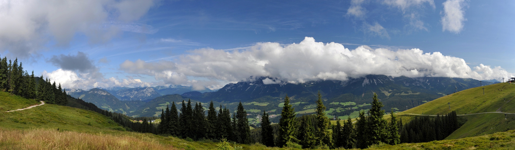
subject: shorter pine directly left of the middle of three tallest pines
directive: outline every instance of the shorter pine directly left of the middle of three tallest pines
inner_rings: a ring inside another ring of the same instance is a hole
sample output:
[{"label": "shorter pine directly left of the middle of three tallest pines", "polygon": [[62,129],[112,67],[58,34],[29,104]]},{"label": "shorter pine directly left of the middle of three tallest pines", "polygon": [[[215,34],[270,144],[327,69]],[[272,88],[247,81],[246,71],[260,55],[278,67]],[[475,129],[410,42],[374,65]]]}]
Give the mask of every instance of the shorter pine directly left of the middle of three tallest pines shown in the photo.
[{"label": "shorter pine directly left of the middle of three tallest pines", "polygon": [[311,119],[307,117],[302,117],[302,122],[299,127],[299,134],[297,139],[299,140],[299,144],[302,145],[302,148],[314,148],[316,144],[315,135],[313,134],[315,130],[311,126]]}]

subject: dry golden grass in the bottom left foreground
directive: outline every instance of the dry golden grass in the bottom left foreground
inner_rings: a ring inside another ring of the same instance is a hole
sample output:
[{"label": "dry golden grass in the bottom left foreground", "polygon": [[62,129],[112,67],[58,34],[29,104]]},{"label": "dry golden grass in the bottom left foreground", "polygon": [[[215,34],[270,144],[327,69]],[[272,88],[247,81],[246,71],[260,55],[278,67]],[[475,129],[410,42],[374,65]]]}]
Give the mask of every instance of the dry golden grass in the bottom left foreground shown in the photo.
[{"label": "dry golden grass in the bottom left foreground", "polygon": [[145,136],[60,132],[53,129],[0,129],[0,149],[177,149]]}]

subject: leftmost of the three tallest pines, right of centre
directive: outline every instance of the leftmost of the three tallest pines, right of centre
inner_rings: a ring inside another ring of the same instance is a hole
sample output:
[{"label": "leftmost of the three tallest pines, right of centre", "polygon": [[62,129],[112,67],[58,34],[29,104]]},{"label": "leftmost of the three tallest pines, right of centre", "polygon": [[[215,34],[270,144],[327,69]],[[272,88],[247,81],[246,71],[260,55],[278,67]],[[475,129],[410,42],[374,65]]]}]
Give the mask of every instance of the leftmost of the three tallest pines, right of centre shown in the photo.
[{"label": "leftmost of the three tallest pines, right of centre", "polygon": [[281,119],[279,120],[279,140],[277,146],[283,147],[288,142],[297,142],[295,138],[295,130],[297,129],[297,120],[295,119],[295,110],[289,104],[289,97],[284,97],[284,106],[281,111]]}]

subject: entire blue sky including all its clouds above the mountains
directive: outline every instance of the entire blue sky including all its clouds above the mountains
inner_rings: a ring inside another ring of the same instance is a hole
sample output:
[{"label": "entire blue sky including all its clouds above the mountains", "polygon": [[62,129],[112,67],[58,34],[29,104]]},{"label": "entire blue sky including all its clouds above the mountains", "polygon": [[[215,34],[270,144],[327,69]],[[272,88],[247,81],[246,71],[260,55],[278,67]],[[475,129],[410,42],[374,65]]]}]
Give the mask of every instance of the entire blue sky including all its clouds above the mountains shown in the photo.
[{"label": "entire blue sky including all its clouds above the mountains", "polygon": [[250,76],[290,83],[366,74],[501,80],[515,72],[514,6],[458,0],[6,1],[0,2],[0,55],[18,57],[25,69],[67,88],[217,89]]}]

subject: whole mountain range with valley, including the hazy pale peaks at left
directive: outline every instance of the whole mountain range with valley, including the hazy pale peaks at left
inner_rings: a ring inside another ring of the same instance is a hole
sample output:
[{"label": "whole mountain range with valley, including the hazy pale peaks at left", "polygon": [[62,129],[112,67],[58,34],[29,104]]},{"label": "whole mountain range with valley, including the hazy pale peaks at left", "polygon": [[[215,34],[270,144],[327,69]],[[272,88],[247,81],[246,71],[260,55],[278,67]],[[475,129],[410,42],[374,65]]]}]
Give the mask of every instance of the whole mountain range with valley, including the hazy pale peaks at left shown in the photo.
[{"label": "whole mountain range with valley, including the hazy pale peaks at left", "polygon": [[[478,87],[480,84],[489,85],[492,82],[480,83],[474,79],[445,77],[408,78],[368,75],[346,81],[320,80],[293,84],[261,77],[251,81],[230,83],[216,91],[194,91],[191,87],[179,85],[94,88],[73,90],[68,93],[103,109],[134,117],[158,116],[161,109],[171,102],[177,104],[191,99],[193,102],[203,103],[204,107],[207,107],[210,101],[214,101],[215,106],[221,104],[231,110],[235,110],[237,104],[242,102],[251,118],[258,116],[263,110],[270,111],[272,115],[280,113],[276,110],[280,110],[286,95],[291,98],[299,115],[311,114],[314,112],[314,102],[320,92],[328,108],[326,111],[328,117],[346,119],[348,116],[355,117],[359,110],[368,109],[373,93],[377,93],[379,99],[385,104],[385,109],[393,108],[401,111],[456,91]],[[99,92],[100,90],[105,92]],[[180,105],[177,107],[180,109]]]}]

